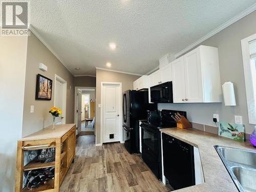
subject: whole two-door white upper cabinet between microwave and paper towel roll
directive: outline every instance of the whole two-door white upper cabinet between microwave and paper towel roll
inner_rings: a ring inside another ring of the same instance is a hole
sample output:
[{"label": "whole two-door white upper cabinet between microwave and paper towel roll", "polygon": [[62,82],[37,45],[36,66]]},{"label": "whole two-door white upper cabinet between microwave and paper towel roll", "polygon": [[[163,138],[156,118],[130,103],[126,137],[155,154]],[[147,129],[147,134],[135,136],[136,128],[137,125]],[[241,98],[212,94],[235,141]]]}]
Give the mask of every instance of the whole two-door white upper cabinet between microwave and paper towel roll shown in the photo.
[{"label": "whole two-door white upper cabinet between microwave and paper towel roll", "polygon": [[218,48],[199,46],[172,62],[174,102],[221,102]]}]

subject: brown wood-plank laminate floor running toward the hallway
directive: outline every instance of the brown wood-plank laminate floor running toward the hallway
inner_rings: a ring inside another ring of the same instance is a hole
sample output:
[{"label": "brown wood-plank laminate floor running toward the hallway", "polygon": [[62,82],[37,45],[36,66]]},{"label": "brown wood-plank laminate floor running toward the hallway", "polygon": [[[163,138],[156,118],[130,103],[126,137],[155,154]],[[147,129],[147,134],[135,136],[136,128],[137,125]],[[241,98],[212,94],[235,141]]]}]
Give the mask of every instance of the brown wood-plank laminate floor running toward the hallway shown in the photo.
[{"label": "brown wood-plank laminate floor running toward the hallway", "polygon": [[95,136],[79,136],[75,162],[60,191],[169,191],[123,144],[95,146]]}]

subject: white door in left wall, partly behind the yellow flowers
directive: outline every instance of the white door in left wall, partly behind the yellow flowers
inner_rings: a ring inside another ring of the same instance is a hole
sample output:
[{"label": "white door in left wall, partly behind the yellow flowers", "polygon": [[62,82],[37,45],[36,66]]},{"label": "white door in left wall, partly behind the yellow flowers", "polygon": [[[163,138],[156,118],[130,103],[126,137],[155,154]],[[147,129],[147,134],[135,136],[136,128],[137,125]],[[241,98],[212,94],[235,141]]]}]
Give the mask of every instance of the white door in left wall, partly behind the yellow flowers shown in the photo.
[{"label": "white door in left wall, partly behind the yellow flowers", "polygon": [[65,122],[63,122],[63,83],[56,80],[55,82],[55,93],[54,93],[54,106],[56,106],[57,108],[61,109],[62,111],[62,115],[60,115],[59,117],[56,117],[55,119],[55,123],[56,124],[63,124]]}]

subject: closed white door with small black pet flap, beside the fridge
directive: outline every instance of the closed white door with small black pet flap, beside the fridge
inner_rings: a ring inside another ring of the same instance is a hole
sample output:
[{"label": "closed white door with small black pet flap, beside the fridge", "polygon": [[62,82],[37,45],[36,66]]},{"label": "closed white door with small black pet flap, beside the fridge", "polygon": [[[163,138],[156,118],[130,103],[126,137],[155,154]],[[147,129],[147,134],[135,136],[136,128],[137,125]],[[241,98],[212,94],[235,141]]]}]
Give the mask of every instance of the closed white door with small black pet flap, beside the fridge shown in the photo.
[{"label": "closed white door with small black pet flap, beside the fridge", "polygon": [[121,93],[120,84],[103,84],[103,143],[120,141],[121,138]]}]

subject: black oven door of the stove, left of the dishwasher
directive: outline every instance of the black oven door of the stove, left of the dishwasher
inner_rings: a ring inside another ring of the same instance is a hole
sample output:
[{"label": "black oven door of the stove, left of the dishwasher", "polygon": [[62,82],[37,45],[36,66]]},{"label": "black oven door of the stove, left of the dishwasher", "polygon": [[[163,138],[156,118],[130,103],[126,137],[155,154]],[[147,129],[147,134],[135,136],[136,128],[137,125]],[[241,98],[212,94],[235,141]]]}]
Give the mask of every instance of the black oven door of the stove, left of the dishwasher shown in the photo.
[{"label": "black oven door of the stove, left of the dishwasher", "polygon": [[149,127],[145,124],[141,124],[141,144],[143,161],[147,164],[156,177],[160,178],[159,169],[159,130],[154,127]]}]

